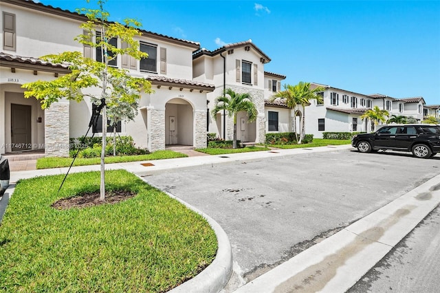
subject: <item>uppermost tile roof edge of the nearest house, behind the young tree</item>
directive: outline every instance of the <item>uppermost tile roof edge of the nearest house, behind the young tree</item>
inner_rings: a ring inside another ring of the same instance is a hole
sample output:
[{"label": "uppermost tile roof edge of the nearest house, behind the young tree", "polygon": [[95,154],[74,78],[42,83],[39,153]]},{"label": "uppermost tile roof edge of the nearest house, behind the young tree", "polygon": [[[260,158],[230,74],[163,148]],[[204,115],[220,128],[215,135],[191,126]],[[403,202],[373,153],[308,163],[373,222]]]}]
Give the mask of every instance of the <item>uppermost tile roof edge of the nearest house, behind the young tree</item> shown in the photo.
[{"label": "uppermost tile roof edge of the nearest house, behind the young tree", "polygon": [[[33,10],[40,10],[50,14],[56,14],[61,17],[67,17],[70,19],[76,19],[79,21],[88,21],[87,17],[83,14],[78,14],[78,12],[72,12],[69,10],[63,10],[61,8],[57,8],[50,5],[44,5],[43,3],[35,3],[34,1],[27,0],[1,0],[2,3],[10,3],[17,6],[22,6],[25,8],[30,8]],[[111,22],[111,21],[110,21]],[[181,45],[189,45],[190,47],[197,49],[200,47],[200,43],[194,41],[188,41],[184,39],[173,38],[172,36],[166,36],[164,34],[157,34],[155,32],[149,32],[147,30],[140,29],[140,32],[144,34],[144,36],[150,36],[155,39],[165,39],[166,41],[171,41],[172,43],[179,43]]]}]

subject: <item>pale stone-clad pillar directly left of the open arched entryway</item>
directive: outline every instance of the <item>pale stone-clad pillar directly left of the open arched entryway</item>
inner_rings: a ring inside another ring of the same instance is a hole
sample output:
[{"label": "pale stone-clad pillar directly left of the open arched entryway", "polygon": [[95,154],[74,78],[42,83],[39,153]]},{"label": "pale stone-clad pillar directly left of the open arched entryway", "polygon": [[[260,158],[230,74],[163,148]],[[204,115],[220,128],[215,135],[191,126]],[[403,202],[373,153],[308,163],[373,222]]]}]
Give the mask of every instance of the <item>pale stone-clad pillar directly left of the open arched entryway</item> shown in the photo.
[{"label": "pale stone-clad pillar directly left of the open arched entryway", "polygon": [[148,151],[165,149],[165,109],[147,109]]}]

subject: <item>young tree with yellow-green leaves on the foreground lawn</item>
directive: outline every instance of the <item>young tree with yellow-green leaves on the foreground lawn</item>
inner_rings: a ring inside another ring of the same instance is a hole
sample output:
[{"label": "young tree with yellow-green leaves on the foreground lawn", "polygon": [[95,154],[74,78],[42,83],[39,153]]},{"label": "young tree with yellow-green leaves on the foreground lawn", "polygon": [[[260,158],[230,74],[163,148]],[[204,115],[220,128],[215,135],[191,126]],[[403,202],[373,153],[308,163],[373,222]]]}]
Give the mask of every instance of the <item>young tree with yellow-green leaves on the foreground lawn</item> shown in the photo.
[{"label": "young tree with yellow-green leaves on the foreground lawn", "polygon": [[[124,23],[110,22],[109,12],[104,10],[106,0],[99,0],[99,9],[81,8],[88,21],[80,28],[85,34],[80,34],[76,41],[100,51],[100,61],[85,58],[81,52],[63,52],[41,57],[51,63],[67,64],[69,74],[54,80],[39,80],[23,85],[27,89],[25,98],[34,97],[41,101],[41,108],[50,107],[53,102],[62,98],[81,102],[88,98],[96,106],[102,107],[102,151],[101,151],[101,182],[100,199],[105,198],[104,156],[107,133],[107,109],[113,122],[118,119],[132,119],[137,113],[137,100],[142,91],[151,93],[151,83],[144,78],[129,75],[125,69],[109,66],[117,56],[127,54],[139,60],[148,58],[148,54],[140,52],[139,41],[135,36],[141,36],[137,30],[140,23],[134,19],[125,19]],[[127,45],[118,48],[111,45],[111,39],[120,39]],[[95,41],[94,41],[95,40]],[[92,94],[90,89],[100,89],[99,94]],[[135,110],[136,109],[136,110]],[[118,114],[117,114],[118,113]]]}]

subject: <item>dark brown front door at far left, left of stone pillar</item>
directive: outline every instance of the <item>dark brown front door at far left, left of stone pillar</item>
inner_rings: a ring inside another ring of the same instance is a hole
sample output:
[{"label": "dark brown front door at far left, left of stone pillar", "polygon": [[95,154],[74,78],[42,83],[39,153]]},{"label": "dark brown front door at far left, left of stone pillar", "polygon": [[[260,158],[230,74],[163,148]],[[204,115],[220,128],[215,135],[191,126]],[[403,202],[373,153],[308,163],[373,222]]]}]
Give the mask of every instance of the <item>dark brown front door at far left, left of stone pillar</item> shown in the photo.
[{"label": "dark brown front door at far left, left of stone pillar", "polygon": [[30,114],[30,106],[11,104],[12,151],[32,149]]}]

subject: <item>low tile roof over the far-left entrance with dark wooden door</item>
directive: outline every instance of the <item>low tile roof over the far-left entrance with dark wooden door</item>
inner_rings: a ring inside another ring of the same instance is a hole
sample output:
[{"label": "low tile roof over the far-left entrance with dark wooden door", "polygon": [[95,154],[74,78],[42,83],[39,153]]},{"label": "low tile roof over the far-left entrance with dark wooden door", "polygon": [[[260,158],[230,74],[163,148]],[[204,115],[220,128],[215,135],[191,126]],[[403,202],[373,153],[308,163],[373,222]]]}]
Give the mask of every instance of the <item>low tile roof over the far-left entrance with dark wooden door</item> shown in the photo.
[{"label": "low tile roof over the far-left entrance with dark wooden door", "polygon": [[11,55],[4,52],[0,52],[0,65],[23,69],[36,69],[36,67],[40,67],[50,72],[70,72],[67,64],[50,63],[39,58]]}]

